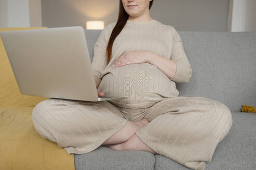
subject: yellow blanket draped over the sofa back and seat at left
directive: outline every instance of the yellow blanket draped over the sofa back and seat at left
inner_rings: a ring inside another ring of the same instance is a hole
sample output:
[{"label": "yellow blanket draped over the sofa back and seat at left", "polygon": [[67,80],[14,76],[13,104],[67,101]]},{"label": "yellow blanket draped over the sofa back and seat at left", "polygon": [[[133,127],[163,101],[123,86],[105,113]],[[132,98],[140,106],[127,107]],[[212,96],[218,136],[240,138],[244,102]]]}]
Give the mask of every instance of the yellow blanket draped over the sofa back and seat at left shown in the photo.
[{"label": "yellow blanket draped over the sofa back and seat at left", "polygon": [[[0,28],[2,31],[47,27]],[[74,154],[39,135],[31,118],[35,105],[47,97],[22,95],[0,37],[0,170],[75,169]]]}]

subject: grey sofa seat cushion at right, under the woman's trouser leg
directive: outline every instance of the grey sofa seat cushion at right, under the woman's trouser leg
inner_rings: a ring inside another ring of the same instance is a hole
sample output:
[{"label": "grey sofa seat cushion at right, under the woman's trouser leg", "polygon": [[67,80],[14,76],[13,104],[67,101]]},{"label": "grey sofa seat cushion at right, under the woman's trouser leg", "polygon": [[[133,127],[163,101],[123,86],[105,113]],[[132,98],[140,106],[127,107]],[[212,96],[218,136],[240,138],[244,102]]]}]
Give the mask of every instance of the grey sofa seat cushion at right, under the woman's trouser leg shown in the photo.
[{"label": "grey sofa seat cushion at right, under the woman's trouser leg", "polygon": [[[217,145],[206,169],[256,169],[256,113],[232,112],[230,132]],[[155,155],[156,170],[190,169],[163,155]]]}]

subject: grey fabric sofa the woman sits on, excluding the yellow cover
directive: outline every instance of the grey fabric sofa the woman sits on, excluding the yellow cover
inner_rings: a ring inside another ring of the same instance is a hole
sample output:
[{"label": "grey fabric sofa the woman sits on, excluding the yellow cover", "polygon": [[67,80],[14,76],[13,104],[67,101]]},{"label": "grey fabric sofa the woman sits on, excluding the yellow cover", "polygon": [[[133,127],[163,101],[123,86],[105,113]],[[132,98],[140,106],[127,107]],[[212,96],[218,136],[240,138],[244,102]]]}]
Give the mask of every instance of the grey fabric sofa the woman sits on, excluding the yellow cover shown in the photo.
[{"label": "grey fabric sofa the woman sits on, excluding the yellow cover", "polygon": [[[101,30],[85,30],[89,53]],[[224,103],[233,115],[230,133],[218,144],[206,169],[256,169],[256,32],[181,32],[192,66],[188,83],[176,83],[179,96],[202,96]],[[116,151],[100,146],[74,154],[75,169],[190,169],[146,151]]]}]

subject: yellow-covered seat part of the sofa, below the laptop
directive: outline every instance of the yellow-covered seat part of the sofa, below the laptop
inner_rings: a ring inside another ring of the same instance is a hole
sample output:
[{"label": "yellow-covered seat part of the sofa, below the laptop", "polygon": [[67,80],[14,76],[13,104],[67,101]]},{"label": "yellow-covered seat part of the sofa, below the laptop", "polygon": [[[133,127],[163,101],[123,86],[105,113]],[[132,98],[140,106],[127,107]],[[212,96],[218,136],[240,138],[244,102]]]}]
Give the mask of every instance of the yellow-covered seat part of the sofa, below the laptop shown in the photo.
[{"label": "yellow-covered seat part of the sofa, below the laptop", "polygon": [[[75,169],[74,155],[42,138],[33,126],[33,107],[0,107],[0,165],[4,169]],[[0,169],[2,169],[0,168]]]}]

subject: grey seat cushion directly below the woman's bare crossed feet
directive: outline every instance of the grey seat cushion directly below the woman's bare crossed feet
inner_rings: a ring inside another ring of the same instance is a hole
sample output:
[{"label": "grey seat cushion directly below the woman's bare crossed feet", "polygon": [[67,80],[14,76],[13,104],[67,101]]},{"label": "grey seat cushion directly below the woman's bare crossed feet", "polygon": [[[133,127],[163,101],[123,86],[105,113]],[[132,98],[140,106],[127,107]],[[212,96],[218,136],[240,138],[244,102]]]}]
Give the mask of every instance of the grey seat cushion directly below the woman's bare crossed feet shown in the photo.
[{"label": "grey seat cushion directly below the woman's bare crossed feet", "polygon": [[155,169],[154,154],[147,151],[118,151],[100,146],[84,154],[74,154],[75,169],[109,169],[109,170],[153,170]]}]

